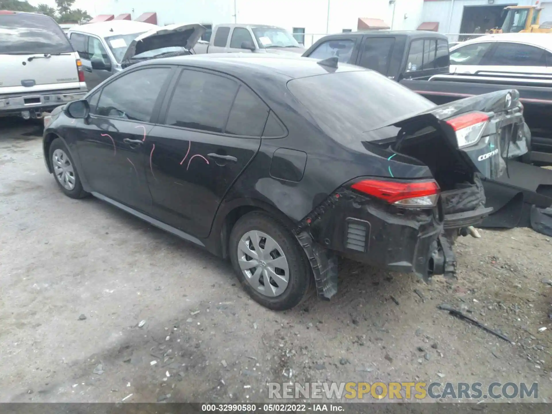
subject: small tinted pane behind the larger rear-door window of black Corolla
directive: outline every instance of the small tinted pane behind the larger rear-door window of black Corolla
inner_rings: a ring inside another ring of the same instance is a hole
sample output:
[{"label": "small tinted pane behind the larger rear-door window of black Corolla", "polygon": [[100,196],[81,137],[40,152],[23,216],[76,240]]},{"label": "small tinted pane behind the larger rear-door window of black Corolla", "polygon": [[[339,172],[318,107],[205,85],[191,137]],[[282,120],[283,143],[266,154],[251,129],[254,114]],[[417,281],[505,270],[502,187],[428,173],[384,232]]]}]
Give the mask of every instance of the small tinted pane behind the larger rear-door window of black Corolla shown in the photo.
[{"label": "small tinted pane behind the larger rear-door window of black Corolla", "polygon": [[268,111],[267,105],[257,95],[245,86],[240,86],[230,110],[226,134],[261,136]]}]

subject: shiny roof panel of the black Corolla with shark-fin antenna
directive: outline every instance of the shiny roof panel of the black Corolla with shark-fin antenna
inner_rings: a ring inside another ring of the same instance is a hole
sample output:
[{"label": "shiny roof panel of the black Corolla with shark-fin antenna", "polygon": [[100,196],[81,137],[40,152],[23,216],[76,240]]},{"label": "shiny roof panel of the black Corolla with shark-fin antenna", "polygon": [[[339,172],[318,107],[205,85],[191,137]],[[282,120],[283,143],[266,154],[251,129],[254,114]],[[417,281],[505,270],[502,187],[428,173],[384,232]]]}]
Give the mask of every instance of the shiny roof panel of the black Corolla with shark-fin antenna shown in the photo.
[{"label": "shiny roof panel of the black Corolla with shark-fin antenna", "polygon": [[[190,56],[174,56],[147,61],[144,64],[176,64],[201,67],[229,73],[243,81],[250,78],[252,82],[266,82],[280,79],[287,82],[290,79],[324,75],[333,72],[367,71],[368,69],[338,63],[337,68],[319,65],[320,59],[310,59],[295,55],[278,54],[248,54],[248,53],[216,53]],[[137,65],[136,65],[137,66]]]}]

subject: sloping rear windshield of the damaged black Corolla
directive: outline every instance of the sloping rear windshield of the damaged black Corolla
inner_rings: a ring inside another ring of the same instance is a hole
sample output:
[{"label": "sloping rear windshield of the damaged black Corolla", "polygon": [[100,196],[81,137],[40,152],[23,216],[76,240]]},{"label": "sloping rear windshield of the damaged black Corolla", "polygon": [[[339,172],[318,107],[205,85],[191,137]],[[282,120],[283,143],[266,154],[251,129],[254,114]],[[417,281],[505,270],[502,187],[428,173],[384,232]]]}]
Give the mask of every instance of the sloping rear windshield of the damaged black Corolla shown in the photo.
[{"label": "sloping rear windshield of the damaged black Corolla", "polygon": [[293,79],[288,89],[328,135],[366,140],[383,128],[436,105],[375,71],[336,72]]}]

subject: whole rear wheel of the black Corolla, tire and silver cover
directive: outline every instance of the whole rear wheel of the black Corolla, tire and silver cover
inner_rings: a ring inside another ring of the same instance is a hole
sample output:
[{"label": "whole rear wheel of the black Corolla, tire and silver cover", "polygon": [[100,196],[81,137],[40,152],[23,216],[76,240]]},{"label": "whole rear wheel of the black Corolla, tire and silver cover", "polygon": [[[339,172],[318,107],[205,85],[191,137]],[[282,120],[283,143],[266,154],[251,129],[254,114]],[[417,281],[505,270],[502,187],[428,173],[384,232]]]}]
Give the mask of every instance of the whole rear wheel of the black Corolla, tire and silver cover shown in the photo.
[{"label": "whole rear wheel of the black Corolla, tire and silver cover", "polygon": [[311,271],[299,242],[280,221],[253,211],[230,234],[232,266],[243,288],[272,310],[298,305],[309,293]]}]

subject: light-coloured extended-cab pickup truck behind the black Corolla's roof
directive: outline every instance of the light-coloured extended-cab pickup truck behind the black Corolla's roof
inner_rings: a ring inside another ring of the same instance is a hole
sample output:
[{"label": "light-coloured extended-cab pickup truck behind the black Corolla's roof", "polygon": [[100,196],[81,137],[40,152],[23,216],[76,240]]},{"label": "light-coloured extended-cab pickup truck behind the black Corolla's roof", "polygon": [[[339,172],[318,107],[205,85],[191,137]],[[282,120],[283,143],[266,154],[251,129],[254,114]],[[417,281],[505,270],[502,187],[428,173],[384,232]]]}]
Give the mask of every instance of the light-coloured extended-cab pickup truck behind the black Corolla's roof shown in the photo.
[{"label": "light-coloured extended-cab pickup truck behind the black Corolla's roof", "polygon": [[299,54],[305,52],[288,30],[261,24],[219,24],[213,29],[211,40],[198,41],[195,54],[246,52]]}]

